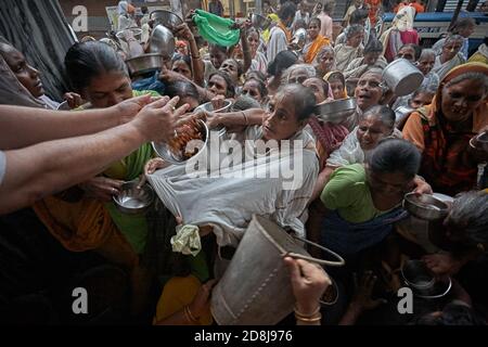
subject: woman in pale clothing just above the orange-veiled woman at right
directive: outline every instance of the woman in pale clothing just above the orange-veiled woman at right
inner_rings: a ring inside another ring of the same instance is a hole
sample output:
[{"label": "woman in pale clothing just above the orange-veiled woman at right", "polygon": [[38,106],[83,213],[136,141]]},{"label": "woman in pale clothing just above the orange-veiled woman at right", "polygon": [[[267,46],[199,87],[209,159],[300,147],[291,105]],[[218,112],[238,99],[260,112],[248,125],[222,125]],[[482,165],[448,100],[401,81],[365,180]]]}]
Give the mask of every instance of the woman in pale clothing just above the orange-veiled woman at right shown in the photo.
[{"label": "woman in pale clothing just above the orange-veiled woman at right", "polygon": [[444,41],[440,55],[436,56],[433,72],[442,78],[455,66],[464,64],[466,61],[460,52],[463,47],[463,38],[460,35],[452,35]]}]

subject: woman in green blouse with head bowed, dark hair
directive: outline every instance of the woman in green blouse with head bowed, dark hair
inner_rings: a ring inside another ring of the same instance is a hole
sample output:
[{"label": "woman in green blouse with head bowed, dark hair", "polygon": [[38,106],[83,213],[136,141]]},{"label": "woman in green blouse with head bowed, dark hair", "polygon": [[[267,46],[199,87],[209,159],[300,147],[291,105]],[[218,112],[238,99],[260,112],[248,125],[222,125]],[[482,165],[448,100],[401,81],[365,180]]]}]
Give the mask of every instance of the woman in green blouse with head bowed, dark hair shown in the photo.
[{"label": "woman in green blouse with head bowed, dark hair", "polygon": [[407,217],[403,195],[414,188],[421,155],[414,145],[400,139],[381,142],[368,164],[343,166],[314,204],[309,239],[354,258],[359,252],[382,242],[393,223]]}]

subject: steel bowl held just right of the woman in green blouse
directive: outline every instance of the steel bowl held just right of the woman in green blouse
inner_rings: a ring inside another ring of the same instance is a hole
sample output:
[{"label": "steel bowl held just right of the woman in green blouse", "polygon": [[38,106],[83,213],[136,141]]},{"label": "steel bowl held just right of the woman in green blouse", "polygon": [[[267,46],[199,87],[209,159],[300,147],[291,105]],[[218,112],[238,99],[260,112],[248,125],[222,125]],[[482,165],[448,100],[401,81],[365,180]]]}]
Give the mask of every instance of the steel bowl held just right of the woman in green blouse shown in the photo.
[{"label": "steel bowl held just right of the woman in green blouse", "polygon": [[449,213],[448,203],[432,194],[408,193],[403,197],[403,208],[423,220],[444,219]]}]

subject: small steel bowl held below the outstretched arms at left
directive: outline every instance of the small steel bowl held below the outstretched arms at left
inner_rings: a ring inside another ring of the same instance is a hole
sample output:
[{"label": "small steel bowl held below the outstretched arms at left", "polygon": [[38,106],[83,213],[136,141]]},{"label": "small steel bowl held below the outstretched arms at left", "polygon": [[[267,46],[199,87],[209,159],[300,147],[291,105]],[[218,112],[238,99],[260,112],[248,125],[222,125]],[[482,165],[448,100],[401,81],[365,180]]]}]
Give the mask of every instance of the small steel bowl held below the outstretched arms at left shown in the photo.
[{"label": "small steel bowl held below the outstretched arms at left", "polygon": [[144,214],[154,202],[154,191],[149,184],[138,188],[139,180],[121,185],[120,193],[112,197],[119,211],[126,215]]}]

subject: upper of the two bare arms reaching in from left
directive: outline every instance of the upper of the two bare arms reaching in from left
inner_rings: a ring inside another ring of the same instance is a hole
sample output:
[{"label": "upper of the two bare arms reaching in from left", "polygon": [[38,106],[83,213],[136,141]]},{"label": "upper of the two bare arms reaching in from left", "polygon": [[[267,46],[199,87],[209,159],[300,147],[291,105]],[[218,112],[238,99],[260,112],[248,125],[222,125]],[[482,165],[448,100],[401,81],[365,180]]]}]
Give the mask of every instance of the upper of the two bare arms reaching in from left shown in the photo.
[{"label": "upper of the two bare arms reaching in from left", "polygon": [[95,133],[129,121],[151,97],[126,100],[108,108],[79,112],[0,105],[0,149]]}]

